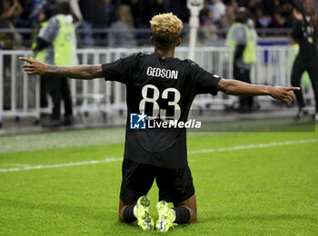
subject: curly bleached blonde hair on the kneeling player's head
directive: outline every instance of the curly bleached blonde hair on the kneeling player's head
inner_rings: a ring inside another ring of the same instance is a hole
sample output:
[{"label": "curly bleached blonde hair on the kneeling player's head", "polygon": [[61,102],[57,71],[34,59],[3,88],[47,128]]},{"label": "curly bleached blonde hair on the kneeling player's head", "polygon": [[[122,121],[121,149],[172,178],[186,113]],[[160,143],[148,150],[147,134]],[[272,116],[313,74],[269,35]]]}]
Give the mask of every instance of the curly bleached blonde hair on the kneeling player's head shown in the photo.
[{"label": "curly bleached blonde hair on the kneeling player's head", "polygon": [[150,25],[155,45],[163,50],[175,45],[183,29],[182,21],[172,13],[154,15]]}]

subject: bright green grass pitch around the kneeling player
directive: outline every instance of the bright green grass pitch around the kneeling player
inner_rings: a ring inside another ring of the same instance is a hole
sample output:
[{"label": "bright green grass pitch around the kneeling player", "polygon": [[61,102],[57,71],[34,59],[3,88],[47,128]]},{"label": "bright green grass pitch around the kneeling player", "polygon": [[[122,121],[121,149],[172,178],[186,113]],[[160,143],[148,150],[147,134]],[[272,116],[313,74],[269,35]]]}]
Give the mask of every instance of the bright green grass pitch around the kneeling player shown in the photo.
[{"label": "bright green grass pitch around the kneeling player", "polygon": [[[198,221],[169,235],[318,234],[317,133],[188,133],[188,151]],[[117,221],[123,152],[124,128],[0,137],[0,235],[159,235]]]}]

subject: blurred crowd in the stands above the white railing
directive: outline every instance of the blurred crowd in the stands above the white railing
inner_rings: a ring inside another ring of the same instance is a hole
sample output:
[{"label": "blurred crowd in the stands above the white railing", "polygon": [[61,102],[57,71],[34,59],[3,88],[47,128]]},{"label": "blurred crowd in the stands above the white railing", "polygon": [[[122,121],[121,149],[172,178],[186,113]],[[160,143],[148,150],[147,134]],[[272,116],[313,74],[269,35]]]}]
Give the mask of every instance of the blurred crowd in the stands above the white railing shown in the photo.
[{"label": "blurred crowd in the stands above the white railing", "polygon": [[[234,23],[235,9],[245,6],[258,34],[288,34],[293,25],[297,0],[205,0],[200,13],[199,39],[204,44],[224,38]],[[0,47],[29,47],[38,15],[45,5],[60,0],[2,0]],[[186,0],[69,0],[77,26],[78,46],[135,46],[149,44],[149,20],[153,15],[173,12],[184,22],[185,37],[190,12]],[[315,1],[316,6],[318,1]],[[279,29],[279,30],[275,30]],[[5,44],[10,37],[13,44]]]}]

